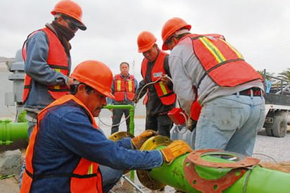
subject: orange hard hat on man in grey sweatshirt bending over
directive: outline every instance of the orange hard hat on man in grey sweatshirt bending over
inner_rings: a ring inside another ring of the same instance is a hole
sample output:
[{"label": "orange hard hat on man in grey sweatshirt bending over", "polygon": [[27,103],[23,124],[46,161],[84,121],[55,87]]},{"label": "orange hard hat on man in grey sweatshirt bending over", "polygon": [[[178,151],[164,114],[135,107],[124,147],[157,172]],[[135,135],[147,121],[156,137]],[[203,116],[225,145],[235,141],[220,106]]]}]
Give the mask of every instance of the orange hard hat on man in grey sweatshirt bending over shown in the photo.
[{"label": "orange hard hat on man in grey sweatshirt bending over", "polygon": [[191,25],[182,20],[182,18],[171,18],[163,25],[161,32],[161,36],[163,39],[162,45],[163,50],[168,50],[168,46],[166,46],[165,44],[168,38],[171,37],[174,34],[174,32],[180,30],[183,27],[187,28],[187,30],[191,29]]}]

